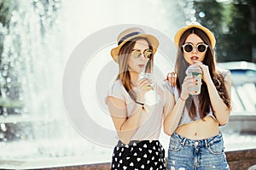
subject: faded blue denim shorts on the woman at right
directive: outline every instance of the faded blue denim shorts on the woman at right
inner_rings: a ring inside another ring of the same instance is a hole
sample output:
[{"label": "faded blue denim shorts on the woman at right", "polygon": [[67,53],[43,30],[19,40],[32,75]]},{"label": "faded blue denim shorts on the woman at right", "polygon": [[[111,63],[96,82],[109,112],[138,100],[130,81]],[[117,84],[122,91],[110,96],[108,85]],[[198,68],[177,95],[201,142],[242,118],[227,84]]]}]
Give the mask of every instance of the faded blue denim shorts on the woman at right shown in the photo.
[{"label": "faded blue denim shorts on the woman at right", "polygon": [[222,133],[210,139],[186,139],[173,133],[168,149],[168,170],[230,169],[224,154]]}]

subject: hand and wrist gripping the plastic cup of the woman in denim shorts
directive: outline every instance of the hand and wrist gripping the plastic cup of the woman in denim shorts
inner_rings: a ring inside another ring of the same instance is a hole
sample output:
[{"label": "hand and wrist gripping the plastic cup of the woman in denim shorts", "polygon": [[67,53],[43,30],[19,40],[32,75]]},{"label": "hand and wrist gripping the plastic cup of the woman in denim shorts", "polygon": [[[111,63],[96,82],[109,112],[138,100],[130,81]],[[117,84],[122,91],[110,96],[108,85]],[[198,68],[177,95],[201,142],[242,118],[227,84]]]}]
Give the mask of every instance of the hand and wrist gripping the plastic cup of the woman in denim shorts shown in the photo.
[{"label": "hand and wrist gripping the plastic cup of the woman in denim shorts", "polygon": [[185,77],[182,85],[181,99],[186,100],[189,98],[189,88],[196,86],[196,80],[194,77]]}]

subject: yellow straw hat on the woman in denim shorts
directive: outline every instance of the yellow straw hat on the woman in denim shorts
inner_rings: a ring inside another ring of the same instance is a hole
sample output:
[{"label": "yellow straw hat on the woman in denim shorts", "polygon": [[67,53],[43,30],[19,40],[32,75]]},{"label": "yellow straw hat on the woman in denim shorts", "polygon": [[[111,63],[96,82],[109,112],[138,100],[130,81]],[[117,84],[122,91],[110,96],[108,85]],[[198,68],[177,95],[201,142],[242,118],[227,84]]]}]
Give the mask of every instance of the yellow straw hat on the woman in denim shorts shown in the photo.
[{"label": "yellow straw hat on the woman in denim shorts", "polygon": [[177,46],[178,46],[178,42],[180,40],[180,37],[182,37],[183,33],[185,31],[189,30],[189,28],[199,28],[199,29],[201,29],[201,31],[204,31],[207,34],[207,37],[209,37],[209,39],[210,39],[210,42],[212,44],[212,48],[215,47],[216,40],[215,40],[214,35],[212,34],[212,31],[208,30],[204,26],[201,26],[201,24],[199,24],[198,22],[192,22],[189,26],[183,26],[179,31],[177,31],[177,33],[174,36],[174,42]]}]

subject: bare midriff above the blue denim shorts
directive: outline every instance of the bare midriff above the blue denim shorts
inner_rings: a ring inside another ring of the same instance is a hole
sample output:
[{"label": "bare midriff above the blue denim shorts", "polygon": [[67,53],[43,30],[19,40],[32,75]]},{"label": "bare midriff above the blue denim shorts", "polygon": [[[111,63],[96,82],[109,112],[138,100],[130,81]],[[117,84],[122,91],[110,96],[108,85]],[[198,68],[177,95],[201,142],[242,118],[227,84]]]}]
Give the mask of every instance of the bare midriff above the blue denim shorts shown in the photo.
[{"label": "bare midriff above the blue denim shorts", "polygon": [[187,139],[209,139],[218,135],[218,122],[212,116],[206,116],[204,119],[177,127],[176,133]]}]

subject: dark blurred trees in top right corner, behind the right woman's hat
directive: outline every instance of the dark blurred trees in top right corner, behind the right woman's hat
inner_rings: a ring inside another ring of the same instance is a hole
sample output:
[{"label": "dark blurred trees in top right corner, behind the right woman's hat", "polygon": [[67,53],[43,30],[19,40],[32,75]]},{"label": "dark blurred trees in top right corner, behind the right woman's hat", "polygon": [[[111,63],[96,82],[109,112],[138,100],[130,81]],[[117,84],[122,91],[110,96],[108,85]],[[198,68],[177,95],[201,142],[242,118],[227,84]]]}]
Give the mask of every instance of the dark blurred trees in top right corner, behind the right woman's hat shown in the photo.
[{"label": "dark blurred trees in top right corner, behind the right woman's hat", "polygon": [[256,1],[195,0],[194,7],[197,21],[216,36],[218,62],[256,61]]}]

